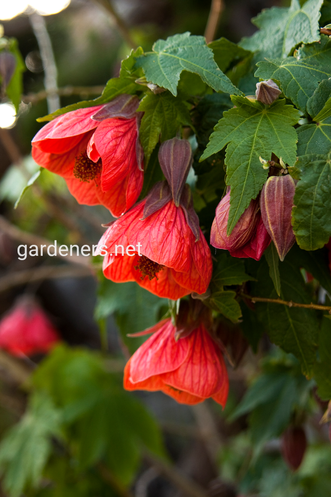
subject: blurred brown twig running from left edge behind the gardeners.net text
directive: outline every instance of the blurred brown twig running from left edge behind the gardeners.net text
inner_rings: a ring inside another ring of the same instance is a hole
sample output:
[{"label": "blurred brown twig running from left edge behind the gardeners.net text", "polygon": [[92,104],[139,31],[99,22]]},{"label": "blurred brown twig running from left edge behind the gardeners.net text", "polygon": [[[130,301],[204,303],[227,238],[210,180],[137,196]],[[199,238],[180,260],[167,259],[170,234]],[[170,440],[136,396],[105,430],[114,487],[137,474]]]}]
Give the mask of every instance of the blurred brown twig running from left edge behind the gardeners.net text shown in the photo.
[{"label": "blurred brown twig running from left edge behind the gardeners.net text", "polygon": [[[34,235],[32,233],[28,233],[27,231],[20,230],[17,226],[9,223],[3,216],[0,216],[0,230],[9,235],[10,238],[16,240],[18,242],[22,242],[25,245],[36,245],[37,247],[43,246],[44,251],[46,253],[47,249],[51,246],[54,246],[53,242],[50,242],[46,238],[39,237],[38,235]],[[52,252],[54,249],[52,248]],[[64,257],[64,260],[69,263],[81,264],[85,267],[93,268],[91,256],[86,255],[61,255],[59,249],[57,247],[56,255],[60,257]]]}]

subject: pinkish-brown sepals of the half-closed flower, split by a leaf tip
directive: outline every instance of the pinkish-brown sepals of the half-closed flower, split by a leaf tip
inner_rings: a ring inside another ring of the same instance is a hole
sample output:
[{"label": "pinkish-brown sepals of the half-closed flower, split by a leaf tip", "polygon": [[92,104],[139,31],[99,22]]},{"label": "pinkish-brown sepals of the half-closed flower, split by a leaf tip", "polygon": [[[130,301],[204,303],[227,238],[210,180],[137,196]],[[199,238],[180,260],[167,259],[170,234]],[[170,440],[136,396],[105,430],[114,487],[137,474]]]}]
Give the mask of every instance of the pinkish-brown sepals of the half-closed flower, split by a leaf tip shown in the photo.
[{"label": "pinkish-brown sepals of the half-closed flower, split by a leaf tip", "polygon": [[229,210],[230,192],[222,198],[216,207],[215,218],[210,232],[210,243],[213,247],[223,248],[232,252],[246,245],[252,237],[258,223],[258,200],[251,200],[248,208],[241,215],[231,235],[228,237]]}]

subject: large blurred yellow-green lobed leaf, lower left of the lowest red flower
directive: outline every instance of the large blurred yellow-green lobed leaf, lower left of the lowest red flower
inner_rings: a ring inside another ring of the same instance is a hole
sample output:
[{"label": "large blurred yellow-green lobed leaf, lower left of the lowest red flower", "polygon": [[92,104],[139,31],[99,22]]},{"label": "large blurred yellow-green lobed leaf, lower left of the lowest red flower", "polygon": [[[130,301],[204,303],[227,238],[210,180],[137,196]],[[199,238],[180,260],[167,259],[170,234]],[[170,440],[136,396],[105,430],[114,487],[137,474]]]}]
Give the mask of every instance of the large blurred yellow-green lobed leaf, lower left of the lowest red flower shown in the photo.
[{"label": "large blurred yellow-green lobed leaf, lower left of the lowest red flower", "polygon": [[154,419],[105,366],[96,353],[60,346],[39,366],[33,382],[61,407],[80,469],[106,460],[114,476],[128,485],[142,446],[161,456],[164,448]]}]

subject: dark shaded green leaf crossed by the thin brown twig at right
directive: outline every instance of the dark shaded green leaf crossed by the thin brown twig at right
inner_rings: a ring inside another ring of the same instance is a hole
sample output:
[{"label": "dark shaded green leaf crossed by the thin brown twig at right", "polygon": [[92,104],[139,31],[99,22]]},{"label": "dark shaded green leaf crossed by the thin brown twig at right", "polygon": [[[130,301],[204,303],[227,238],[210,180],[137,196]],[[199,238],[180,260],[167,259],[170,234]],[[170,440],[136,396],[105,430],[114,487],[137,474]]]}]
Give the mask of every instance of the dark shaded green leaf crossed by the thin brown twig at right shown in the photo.
[{"label": "dark shaded green leaf crossed by the thin brown twig at right", "polygon": [[[258,284],[253,284],[253,295],[276,299],[277,293],[271,280],[266,278],[267,264],[262,262],[257,272]],[[289,258],[279,265],[281,292],[286,301],[302,304],[311,302],[305,291],[299,266]],[[318,343],[318,321],[314,310],[299,309],[274,303],[255,304],[259,320],[263,323],[270,340],[291,352],[300,361],[302,372],[312,376]]]}]

